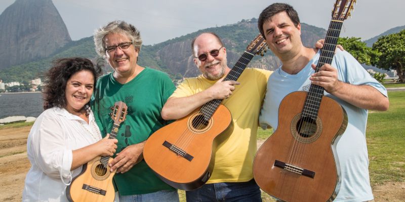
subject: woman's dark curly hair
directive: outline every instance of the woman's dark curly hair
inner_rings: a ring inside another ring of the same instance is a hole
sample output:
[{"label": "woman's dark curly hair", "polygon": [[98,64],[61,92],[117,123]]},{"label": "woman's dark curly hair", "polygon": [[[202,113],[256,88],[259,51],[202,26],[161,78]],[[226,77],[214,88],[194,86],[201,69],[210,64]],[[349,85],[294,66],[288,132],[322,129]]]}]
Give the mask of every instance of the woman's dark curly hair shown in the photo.
[{"label": "woman's dark curly hair", "polygon": [[[52,107],[66,107],[65,89],[69,78],[79,71],[90,71],[94,77],[94,87],[101,75],[101,65],[86,58],[61,58],[53,61],[53,67],[45,75],[44,110]],[[95,90],[94,90],[95,91]]]}]

